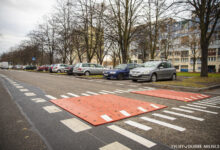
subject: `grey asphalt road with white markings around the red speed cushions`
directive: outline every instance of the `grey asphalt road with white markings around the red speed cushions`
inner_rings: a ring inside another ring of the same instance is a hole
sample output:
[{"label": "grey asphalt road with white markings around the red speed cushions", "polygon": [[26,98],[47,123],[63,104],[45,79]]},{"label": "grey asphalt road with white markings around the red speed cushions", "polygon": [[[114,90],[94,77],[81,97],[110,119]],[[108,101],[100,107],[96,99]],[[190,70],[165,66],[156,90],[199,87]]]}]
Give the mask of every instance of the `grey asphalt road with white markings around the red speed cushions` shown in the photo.
[{"label": "grey asphalt road with white markings around the red speed cushions", "polygon": [[[216,105],[204,104],[205,100],[198,101],[202,102],[200,104],[203,104],[199,105],[194,104],[194,102],[186,103],[130,93],[129,91],[132,90],[149,90],[150,87],[147,86],[147,83],[133,83],[129,80],[87,80],[74,76],[0,70],[0,84],[10,93],[12,101],[20,108],[26,120],[28,120],[30,128],[36,131],[34,132],[36,134],[36,140],[40,138],[47,149],[220,149],[220,97],[218,97],[220,93],[218,90],[202,93],[209,94],[212,98],[214,97],[214,104]],[[71,97],[70,93],[72,96],[73,94],[77,96],[89,96],[92,95],[91,92],[102,94],[102,92],[105,93],[106,91],[113,92],[114,95],[121,97],[165,105],[167,107],[113,123],[93,126],[49,101],[52,98],[63,99]],[[0,92],[1,101],[4,97],[3,93]],[[25,93],[29,94],[25,95]],[[193,104],[194,106],[188,104]],[[54,112],[46,110],[45,107],[48,106],[52,106]],[[184,109],[188,112],[173,109],[174,107]],[[191,109],[184,107],[190,107]],[[164,111],[171,111],[185,116],[177,116]],[[155,113],[165,115],[165,117],[169,118],[155,116]],[[11,116],[9,115],[8,117]],[[141,117],[150,118],[151,121],[143,120]],[[193,117],[197,117],[197,120]],[[5,116],[4,118],[7,119]],[[1,120],[4,121],[4,118]],[[69,119],[76,121],[77,125],[70,127],[63,123]],[[152,119],[154,119],[154,122],[152,122]],[[136,125],[129,125],[125,122],[136,123]],[[140,126],[144,129],[140,129]],[[114,130],[115,128],[113,129],[111,127],[117,127],[118,130]],[[150,127],[151,129],[147,130],[146,127]],[[184,129],[184,131],[177,130],[177,128]],[[7,130],[12,129],[8,128]],[[4,135],[1,134],[0,136]],[[39,149],[45,148],[43,143],[38,142],[37,144],[41,147]],[[8,147],[12,145],[13,143],[8,145]]]}]

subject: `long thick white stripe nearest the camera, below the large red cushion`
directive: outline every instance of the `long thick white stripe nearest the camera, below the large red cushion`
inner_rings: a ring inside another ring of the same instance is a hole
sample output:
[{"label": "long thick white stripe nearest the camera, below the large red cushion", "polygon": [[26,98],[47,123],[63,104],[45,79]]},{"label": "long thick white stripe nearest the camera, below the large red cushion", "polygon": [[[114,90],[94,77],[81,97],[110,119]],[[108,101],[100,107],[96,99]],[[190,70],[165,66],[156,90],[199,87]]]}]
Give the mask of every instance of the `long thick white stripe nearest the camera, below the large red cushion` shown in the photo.
[{"label": "long thick white stripe nearest the camera, below the large red cushion", "polygon": [[142,144],[143,146],[145,146],[147,148],[151,148],[151,147],[156,145],[156,143],[151,142],[151,141],[149,141],[149,140],[147,140],[147,139],[145,139],[141,136],[138,136],[138,135],[136,135],[136,134],[134,134],[130,131],[122,129],[122,128],[116,126],[116,125],[110,125],[110,126],[108,126],[108,128],[115,131],[115,132],[117,132],[117,133],[119,133],[119,134],[121,134],[121,135],[124,135],[125,137],[127,137],[127,138],[129,138],[129,139],[131,139],[131,140],[133,140],[133,141],[135,141],[139,144]]}]

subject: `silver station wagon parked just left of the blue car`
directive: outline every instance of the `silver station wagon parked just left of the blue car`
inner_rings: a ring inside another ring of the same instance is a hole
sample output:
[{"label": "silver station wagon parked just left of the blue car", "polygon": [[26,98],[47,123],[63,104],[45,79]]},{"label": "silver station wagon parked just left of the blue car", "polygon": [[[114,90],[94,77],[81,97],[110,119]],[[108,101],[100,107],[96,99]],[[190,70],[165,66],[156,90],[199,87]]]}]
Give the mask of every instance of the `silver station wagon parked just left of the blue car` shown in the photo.
[{"label": "silver station wagon parked just left of the blue car", "polygon": [[93,63],[78,63],[73,69],[73,74],[76,75],[102,75],[103,71],[106,70],[103,66]]}]

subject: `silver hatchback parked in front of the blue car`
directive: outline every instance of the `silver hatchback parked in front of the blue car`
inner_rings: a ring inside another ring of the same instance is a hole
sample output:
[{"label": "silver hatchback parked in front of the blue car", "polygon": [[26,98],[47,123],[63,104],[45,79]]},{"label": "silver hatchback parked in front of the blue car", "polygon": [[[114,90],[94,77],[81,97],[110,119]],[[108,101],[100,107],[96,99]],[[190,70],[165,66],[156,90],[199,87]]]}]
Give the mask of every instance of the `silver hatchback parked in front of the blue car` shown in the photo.
[{"label": "silver hatchback parked in front of the blue car", "polygon": [[130,79],[134,82],[138,80],[152,82],[163,79],[176,80],[176,68],[168,61],[149,61],[144,64],[144,67],[131,70]]}]

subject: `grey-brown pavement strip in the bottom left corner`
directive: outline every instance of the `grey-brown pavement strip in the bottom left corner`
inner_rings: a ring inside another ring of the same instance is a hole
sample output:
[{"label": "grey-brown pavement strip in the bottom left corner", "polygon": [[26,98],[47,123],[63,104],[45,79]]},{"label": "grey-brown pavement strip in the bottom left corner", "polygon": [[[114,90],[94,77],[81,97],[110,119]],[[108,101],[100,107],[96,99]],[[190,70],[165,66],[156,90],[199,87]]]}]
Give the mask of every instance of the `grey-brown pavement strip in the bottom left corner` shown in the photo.
[{"label": "grey-brown pavement strip in the bottom left corner", "polygon": [[0,81],[0,149],[46,150],[40,136],[33,131],[18,106]]}]

